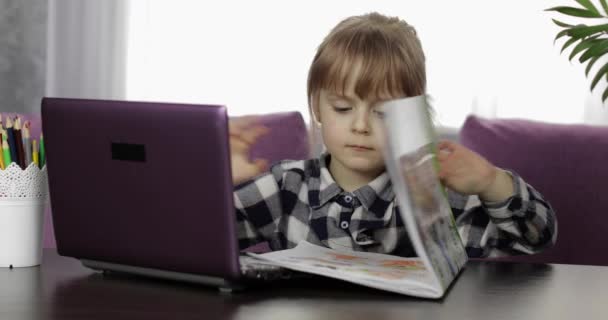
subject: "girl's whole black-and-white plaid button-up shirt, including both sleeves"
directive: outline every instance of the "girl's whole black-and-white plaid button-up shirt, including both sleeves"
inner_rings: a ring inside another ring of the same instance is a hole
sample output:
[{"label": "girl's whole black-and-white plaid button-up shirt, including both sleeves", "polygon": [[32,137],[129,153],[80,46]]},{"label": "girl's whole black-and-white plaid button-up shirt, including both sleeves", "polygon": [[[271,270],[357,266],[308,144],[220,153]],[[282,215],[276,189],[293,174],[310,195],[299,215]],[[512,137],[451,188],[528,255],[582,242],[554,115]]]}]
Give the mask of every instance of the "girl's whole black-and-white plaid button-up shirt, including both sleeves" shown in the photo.
[{"label": "girl's whole black-and-white plaid button-up shirt, including both sleeves", "polygon": [[[239,246],[267,241],[272,250],[301,240],[334,249],[416,256],[388,174],[347,192],[319,159],[283,161],[234,191]],[[551,246],[557,222],[542,196],[512,173],[515,195],[504,202],[448,192],[469,257],[535,253]]]}]

